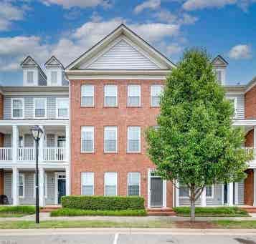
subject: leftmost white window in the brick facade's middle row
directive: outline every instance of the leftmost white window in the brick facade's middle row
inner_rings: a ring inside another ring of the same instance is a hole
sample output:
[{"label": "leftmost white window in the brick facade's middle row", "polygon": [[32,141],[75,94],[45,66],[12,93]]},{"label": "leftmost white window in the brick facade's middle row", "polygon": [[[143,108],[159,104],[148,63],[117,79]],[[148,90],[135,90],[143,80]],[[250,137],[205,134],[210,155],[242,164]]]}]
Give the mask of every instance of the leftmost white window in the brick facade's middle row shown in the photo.
[{"label": "leftmost white window in the brick facade's middle row", "polygon": [[81,130],[81,152],[94,152],[94,127],[83,126]]}]

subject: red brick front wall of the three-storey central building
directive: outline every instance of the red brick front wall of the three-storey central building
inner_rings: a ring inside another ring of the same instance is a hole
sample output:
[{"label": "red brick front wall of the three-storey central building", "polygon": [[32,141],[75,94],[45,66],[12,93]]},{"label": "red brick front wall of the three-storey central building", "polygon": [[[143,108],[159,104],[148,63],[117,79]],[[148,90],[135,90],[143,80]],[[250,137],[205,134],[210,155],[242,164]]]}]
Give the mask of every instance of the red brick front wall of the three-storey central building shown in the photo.
[{"label": "red brick front wall of the three-storey central building", "polygon": [[[127,195],[128,172],[141,172],[141,195],[148,198],[148,169],[155,165],[146,156],[146,142],[143,131],[156,125],[158,108],[151,107],[151,84],[162,81],[151,80],[75,80],[71,82],[71,174],[72,194],[81,193],[81,172],[95,172],[95,195],[104,194],[104,172],[118,172],[118,195]],[[95,107],[80,106],[80,87],[82,84],[95,85]],[[103,107],[104,84],[118,85],[118,108]],[[141,107],[127,107],[127,85],[141,84]],[[81,126],[95,127],[95,152],[80,152]],[[118,126],[118,153],[104,153],[104,126]],[[141,153],[126,153],[127,127],[141,126]],[[167,206],[172,206],[172,185],[168,182]]]}]

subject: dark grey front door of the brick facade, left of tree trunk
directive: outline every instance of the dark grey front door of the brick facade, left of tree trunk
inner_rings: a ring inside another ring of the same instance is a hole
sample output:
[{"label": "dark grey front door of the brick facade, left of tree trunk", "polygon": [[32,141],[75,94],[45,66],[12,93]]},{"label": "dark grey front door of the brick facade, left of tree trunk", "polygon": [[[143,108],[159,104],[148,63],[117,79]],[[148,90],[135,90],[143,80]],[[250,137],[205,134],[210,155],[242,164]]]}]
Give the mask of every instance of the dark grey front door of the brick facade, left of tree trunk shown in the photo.
[{"label": "dark grey front door of the brick facade, left of tree trunk", "polygon": [[151,207],[163,207],[163,180],[151,177]]}]

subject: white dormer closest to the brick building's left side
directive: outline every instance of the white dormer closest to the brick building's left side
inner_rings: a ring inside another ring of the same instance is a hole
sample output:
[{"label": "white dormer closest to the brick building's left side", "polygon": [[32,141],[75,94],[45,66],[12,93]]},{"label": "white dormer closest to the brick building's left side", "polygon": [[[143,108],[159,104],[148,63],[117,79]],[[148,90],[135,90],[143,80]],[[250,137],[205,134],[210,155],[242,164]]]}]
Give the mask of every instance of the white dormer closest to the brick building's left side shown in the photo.
[{"label": "white dormer closest to the brick building's left side", "polygon": [[47,60],[44,66],[47,70],[47,85],[62,86],[65,81],[62,63],[56,57],[52,56]]}]

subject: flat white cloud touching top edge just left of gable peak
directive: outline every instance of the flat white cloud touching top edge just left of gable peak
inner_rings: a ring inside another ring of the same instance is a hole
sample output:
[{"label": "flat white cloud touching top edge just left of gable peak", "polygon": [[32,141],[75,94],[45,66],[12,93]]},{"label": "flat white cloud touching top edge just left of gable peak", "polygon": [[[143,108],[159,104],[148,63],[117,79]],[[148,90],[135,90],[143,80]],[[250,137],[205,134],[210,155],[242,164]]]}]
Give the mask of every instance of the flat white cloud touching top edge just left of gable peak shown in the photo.
[{"label": "flat white cloud touching top edge just left of gable peak", "polygon": [[57,4],[63,6],[65,9],[70,9],[74,6],[80,8],[91,8],[95,6],[103,6],[108,7],[110,6],[110,1],[108,0],[41,0],[42,3],[46,5]]}]

